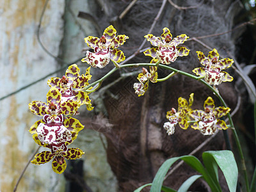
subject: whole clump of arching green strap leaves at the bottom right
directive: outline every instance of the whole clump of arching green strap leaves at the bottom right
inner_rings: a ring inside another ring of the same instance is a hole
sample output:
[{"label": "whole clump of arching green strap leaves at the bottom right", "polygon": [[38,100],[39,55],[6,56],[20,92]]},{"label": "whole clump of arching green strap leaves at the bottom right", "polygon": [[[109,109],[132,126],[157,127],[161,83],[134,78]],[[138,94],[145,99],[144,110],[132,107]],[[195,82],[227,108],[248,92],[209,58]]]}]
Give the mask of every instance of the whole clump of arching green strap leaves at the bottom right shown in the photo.
[{"label": "whole clump of arching green strap leaves at the bottom right", "polygon": [[182,186],[180,186],[178,190],[179,192],[188,191],[189,187],[199,178],[204,179],[212,191],[221,191],[221,187],[218,182],[218,166],[223,172],[230,192],[236,192],[238,170],[233,153],[230,150],[207,151],[203,153],[202,158],[205,167],[194,156],[181,156],[167,159],[157,171],[152,184],[145,184],[144,186],[136,189],[134,192],[140,192],[146,186],[151,186],[150,191],[154,192],[161,190],[175,191],[174,189],[163,187],[163,182],[169,168],[179,159],[183,160],[186,164],[191,166],[191,168],[202,174],[189,177],[189,179],[187,179]]}]

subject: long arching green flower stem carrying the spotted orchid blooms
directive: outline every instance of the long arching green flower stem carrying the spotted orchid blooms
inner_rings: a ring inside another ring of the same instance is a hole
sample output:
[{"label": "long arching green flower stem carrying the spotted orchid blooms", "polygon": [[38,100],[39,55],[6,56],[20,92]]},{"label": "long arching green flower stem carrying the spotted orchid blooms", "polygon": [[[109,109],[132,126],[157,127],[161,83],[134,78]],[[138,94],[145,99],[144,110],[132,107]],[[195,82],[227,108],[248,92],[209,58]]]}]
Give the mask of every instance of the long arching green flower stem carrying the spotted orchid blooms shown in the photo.
[{"label": "long arching green flower stem carrying the spotted orchid blooms", "polygon": [[[179,74],[182,74],[183,76],[187,76],[187,77],[190,77],[192,79],[195,79],[195,80],[199,80],[201,83],[205,84],[205,86],[207,86],[207,88],[209,88],[210,90],[212,90],[212,92],[214,92],[216,94],[216,96],[220,99],[221,103],[223,104],[223,106],[225,106],[227,108],[227,104],[225,103],[225,101],[223,100],[223,98],[221,97],[220,93],[218,93],[216,90],[214,90],[214,88],[206,83],[201,77],[197,77],[197,76],[194,76],[192,74],[189,74],[187,72],[183,72],[182,70],[177,70],[176,68],[173,68],[173,67],[169,67],[167,65],[163,65],[163,64],[159,64],[159,63],[132,63],[132,64],[125,64],[125,65],[119,65],[120,68],[125,68],[125,67],[145,67],[145,66],[156,66],[156,67],[161,67],[161,68],[166,68],[168,70],[172,70],[173,72],[175,73],[179,73]],[[108,72],[108,74],[106,74],[105,76],[103,76],[102,78],[100,78],[99,80],[93,82],[92,84],[86,86],[84,88],[84,90],[87,90],[88,88],[90,88],[91,86],[94,86],[95,84],[101,82],[101,81],[104,81],[104,79],[106,79],[107,77],[109,77],[111,74],[113,74],[113,72],[115,72],[116,70],[118,70],[119,68],[113,68],[111,71]],[[230,126],[231,127],[234,127],[234,123],[232,121],[232,118],[230,116],[230,113],[227,114],[228,116],[228,120],[229,120],[229,123],[230,123]],[[247,175],[247,172],[246,172],[246,166],[245,166],[245,161],[244,161],[244,155],[243,155],[243,150],[241,148],[241,143],[239,141],[239,138],[237,136],[237,132],[236,132],[236,129],[231,129],[233,134],[234,134],[234,138],[235,138],[235,141],[236,141],[236,145],[237,145],[237,148],[238,148],[238,151],[239,151],[239,156],[241,158],[241,163],[242,163],[242,171],[243,171],[243,175],[244,175],[244,180],[246,182],[246,189],[247,191],[250,191],[250,188],[249,188],[249,182],[248,182],[248,175]]]}]

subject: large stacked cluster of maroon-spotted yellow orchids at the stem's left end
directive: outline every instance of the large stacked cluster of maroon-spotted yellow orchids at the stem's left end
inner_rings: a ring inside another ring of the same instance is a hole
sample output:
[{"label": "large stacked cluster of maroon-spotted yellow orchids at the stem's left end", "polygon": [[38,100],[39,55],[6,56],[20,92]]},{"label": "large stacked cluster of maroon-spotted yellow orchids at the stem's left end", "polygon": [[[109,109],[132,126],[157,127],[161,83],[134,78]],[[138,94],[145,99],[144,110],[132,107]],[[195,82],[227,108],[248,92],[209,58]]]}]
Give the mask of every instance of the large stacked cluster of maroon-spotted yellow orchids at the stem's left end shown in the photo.
[{"label": "large stacked cluster of maroon-spotted yellow orchids at the stem's left end", "polygon": [[68,148],[84,128],[79,120],[71,116],[77,115],[77,109],[83,104],[88,110],[93,109],[88,94],[83,92],[92,77],[90,68],[82,76],[79,76],[79,72],[76,64],[70,65],[65,76],[52,77],[47,81],[51,87],[47,93],[47,103],[39,100],[29,103],[31,112],[42,116],[42,120],[35,122],[29,132],[38,145],[50,149],[36,154],[31,163],[44,164],[54,158],[52,170],[56,173],[64,172],[67,166],[65,158],[77,159],[84,154],[79,148]]}]

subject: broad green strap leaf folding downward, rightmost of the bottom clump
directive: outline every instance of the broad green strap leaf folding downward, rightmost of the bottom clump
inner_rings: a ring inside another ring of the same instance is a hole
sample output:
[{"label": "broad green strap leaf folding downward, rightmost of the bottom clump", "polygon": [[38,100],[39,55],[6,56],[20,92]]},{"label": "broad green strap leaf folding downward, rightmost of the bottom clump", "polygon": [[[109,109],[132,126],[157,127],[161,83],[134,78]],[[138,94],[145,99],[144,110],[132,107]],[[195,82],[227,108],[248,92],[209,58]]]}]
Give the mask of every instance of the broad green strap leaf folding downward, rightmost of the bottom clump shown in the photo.
[{"label": "broad green strap leaf folding downward, rightmost of the bottom clump", "polygon": [[[207,151],[203,153],[202,157],[204,159],[204,162],[208,163],[211,163],[212,158],[214,158],[218,166],[220,166],[221,171],[223,172],[230,192],[236,192],[238,169],[233,153],[230,150]],[[207,168],[211,167],[206,164],[205,166]],[[216,173],[214,173],[215,168],[213,165],[212,168],[210,168],[210,170],[208,171],[209,173],[214,174],[214,177],[216,177]]]}]

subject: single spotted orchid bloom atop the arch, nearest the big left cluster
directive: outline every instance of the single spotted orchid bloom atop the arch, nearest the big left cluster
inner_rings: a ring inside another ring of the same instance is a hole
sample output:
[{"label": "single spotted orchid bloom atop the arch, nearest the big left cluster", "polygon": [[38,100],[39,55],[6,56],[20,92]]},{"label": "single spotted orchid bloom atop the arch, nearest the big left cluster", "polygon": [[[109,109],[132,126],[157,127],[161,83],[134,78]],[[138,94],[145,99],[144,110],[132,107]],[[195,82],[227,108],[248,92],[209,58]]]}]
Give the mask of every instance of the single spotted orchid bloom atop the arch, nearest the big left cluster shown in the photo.
[{"label": "single spotted orchid bloom atop the arch, nearest the big left cluster", "polygon": [[129,38],[126,35],[116,36],[116,29],[109,26],[104,30],[103,35],[98,38],[95,36],[88,36],[84,38],[84,42],[91,47],[94,52],[87,51],[86,57],[82,62],[86,62],[92,67],[103,68],[112,60],[114,63],[120,63],[125,60],[124,52],[118,50],[120,45],[123,45]]}]

